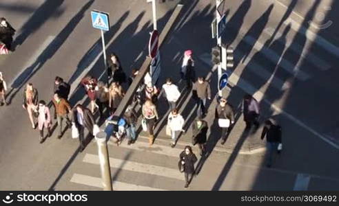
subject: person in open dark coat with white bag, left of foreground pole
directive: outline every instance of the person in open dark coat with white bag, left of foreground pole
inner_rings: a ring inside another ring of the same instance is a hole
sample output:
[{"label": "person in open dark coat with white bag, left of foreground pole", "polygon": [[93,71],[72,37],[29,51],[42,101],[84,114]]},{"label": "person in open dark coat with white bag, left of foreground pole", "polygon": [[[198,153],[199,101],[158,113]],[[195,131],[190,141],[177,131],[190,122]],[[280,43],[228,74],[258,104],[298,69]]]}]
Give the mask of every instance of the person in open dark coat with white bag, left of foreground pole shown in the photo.
[{"label": "person in open dark coat with white bag, left of foreground pole", "polygon": [[85,128],[90,135],[93,135],[93,126],[95,124],[93,114],[88,108],[81,104],[76,105],[72,110],[72,124],[79,130],[80,152],[85,148]]}]

